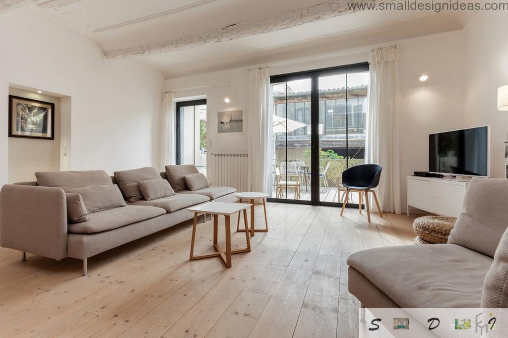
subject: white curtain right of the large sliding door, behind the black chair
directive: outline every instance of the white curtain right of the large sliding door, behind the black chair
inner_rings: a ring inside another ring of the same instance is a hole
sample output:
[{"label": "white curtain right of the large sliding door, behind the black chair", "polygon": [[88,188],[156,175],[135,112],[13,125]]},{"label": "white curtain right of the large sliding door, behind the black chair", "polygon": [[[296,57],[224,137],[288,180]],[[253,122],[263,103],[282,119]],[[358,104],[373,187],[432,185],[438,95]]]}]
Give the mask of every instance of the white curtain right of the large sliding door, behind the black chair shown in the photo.
[{"label": "white curtain right of the large sliding door, behind the black chair", "polygon": [[395,46],[370,53],[366,161],[383,167],[377,187],[382,210],[400,214],[397,60]]}]

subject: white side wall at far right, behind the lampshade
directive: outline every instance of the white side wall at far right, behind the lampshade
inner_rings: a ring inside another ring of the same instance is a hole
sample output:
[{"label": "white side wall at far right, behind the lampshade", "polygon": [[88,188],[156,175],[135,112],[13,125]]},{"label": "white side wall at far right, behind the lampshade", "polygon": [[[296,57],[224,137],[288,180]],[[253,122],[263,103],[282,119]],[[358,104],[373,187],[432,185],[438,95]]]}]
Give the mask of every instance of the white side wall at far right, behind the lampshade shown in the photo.
[{"label": "white side wall at far right, behind the lampshade", "polygon": [[508,84],[508,20],[504,12],[482,13],[464,29],[466,126],[491,126],[490,174],[504,177],[508,112],[497,110],[497,88]]}]

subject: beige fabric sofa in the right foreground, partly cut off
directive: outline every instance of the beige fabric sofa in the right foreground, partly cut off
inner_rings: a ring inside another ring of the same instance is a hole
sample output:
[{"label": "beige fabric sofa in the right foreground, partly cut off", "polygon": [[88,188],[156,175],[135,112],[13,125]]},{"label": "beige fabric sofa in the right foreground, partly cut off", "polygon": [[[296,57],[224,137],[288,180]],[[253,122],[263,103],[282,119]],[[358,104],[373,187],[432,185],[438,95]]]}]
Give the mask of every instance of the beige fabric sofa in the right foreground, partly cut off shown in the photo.
[{"label": "beige fabric sofa in the right foreground, partly cut off", "polygon": [[350,293],[366,308],[491,308],[493,299],[501,304],[496,307],[506,307],[506,196],[508,180],[475,178],[447,244],[352,254],[347,259]]}]

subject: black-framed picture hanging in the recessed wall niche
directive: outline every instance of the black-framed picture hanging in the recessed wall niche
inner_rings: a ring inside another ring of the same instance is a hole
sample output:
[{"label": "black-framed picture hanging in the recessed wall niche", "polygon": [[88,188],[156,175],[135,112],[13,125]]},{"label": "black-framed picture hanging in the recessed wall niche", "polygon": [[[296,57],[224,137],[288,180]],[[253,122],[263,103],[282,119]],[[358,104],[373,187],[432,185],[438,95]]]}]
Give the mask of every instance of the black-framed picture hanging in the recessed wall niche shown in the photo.
[{"label": "black-framed picture hanging in the recessed wall niche", "polygon": [[9,137],[54,140],[55,105],[9,95]]}]

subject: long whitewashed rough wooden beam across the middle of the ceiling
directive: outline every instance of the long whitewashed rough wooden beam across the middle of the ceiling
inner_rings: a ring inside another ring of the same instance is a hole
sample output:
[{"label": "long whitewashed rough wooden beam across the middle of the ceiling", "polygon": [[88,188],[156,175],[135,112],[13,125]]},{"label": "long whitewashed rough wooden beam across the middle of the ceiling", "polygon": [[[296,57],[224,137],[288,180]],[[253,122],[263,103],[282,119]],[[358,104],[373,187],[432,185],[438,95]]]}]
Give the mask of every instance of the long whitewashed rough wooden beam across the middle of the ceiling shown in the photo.
[{"label": "long whitewashed rough wooden beam across the middle of the ceiling", "polygon": [[[358,3],[374,3],[377,1],[378,0],[359,0]],[[397,1],[399,0],[388,0],[387,2]],[[349,9],[344,0],[326,1],[310,7],[278,13],[260,20],[247,20],[233,23],[225,27],[209,30],[199,35],[182,37],[151,45],[110,50],[104,52],[104,56],[108,59],[121,59],[134,56],[163,54],[204,44],[218,43],[268,33],[274,30],[326,20],[358,11],[359,10]]]}]

